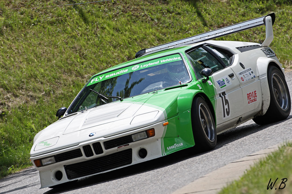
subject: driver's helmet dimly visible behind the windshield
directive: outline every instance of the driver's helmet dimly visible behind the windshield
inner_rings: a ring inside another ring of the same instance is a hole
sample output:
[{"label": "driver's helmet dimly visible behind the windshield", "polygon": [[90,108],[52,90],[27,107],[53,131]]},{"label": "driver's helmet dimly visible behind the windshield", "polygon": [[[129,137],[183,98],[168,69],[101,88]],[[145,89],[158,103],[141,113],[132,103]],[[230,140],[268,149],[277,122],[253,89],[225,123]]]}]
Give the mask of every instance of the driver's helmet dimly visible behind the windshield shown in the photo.
[{"label": "driver's helmet dimly visible behind the windshield", "polygon": [[185,65],[181,61],[171,62],[167,65],[167,71],[170,75],[171,79],[175,81],[184,82],[187,71],[185,69]]}]

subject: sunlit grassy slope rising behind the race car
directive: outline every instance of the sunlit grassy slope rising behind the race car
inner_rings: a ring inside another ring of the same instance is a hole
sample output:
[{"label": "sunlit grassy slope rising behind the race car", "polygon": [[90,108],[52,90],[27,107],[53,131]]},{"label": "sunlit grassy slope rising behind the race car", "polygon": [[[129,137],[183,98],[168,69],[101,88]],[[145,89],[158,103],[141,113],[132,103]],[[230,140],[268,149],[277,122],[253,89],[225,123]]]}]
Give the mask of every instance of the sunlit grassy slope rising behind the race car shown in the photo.
[{"label": "sunlit grassy slope rising behind the race car", "polygon": [[[290,0],[112,0],[8,9],[74,2],[0,1],[0,177],[31,165],[34,135],[57,120],[58,108],[68,107],[92,75],[142,48],[275,12],[271,47],[292,67]],[[218,40],[264,39],[259,27]]]}]

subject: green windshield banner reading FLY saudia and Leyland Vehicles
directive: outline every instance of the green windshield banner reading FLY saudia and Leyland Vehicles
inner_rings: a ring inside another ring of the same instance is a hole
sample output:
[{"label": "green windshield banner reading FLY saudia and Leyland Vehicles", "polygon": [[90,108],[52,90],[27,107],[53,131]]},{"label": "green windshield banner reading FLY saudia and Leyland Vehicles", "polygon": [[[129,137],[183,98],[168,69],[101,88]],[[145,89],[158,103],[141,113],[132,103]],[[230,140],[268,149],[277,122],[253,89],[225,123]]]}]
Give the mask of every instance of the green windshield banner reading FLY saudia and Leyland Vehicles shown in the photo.
[{"label": "green windshield banner reading FLY saudia and Leyland Vehicles", "polygon": [[119,75],[130,73],[133,71],[137,71],[137,70],[141,70],[141,69],[145,69],[148,67],[157,66],[157,65],[161,65],[161,64],[165,64],[165,63],[170,63],[170,62],[174,62],[174,61],[181,61],[181,60],[182,60],[182,58],[180,57],[179,54],[174,54],[174,55],[170,55],[167,57],[162,57],[159,59],[154,59],[151,61],[140,63],[137,65],[132,65],[129,67],[121,68],[118,70],[114,70],[114,71],[93,77],[92,80],[90,80],[90,82],[87,84],[87,86],[101,82],[103,80],[107,80],[107,79],[112,78],[112,77],[117,77]]}]

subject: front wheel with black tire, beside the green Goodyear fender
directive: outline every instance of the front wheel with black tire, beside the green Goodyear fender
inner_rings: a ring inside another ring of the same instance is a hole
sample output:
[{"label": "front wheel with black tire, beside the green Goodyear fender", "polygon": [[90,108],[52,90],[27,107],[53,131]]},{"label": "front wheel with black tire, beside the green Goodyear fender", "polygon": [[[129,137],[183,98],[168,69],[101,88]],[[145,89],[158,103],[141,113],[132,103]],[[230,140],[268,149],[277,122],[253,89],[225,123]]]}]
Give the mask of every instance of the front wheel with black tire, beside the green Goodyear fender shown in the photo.
[{"label": "front wheel with black tire, beside the green Goodyear fender", "polygon": [[206,101],[195,97],[191,109],[192,129],[196,152],[213,149],[217,144],[216,125]]}]

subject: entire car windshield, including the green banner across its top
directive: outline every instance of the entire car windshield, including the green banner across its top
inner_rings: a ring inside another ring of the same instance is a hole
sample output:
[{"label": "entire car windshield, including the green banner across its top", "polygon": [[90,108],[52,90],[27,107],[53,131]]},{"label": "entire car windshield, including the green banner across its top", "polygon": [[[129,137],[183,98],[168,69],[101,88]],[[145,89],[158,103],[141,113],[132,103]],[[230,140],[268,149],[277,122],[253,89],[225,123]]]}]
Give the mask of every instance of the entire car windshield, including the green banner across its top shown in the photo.
[{"label": "entire car windshield, including the green banner across its top", "polygon": [[189,81],[190,76],[179,54],[113,70],[93,77],[69,107],[68,114],[105,104],[93,91],[104,96],[128,98]]}]

